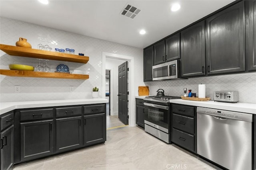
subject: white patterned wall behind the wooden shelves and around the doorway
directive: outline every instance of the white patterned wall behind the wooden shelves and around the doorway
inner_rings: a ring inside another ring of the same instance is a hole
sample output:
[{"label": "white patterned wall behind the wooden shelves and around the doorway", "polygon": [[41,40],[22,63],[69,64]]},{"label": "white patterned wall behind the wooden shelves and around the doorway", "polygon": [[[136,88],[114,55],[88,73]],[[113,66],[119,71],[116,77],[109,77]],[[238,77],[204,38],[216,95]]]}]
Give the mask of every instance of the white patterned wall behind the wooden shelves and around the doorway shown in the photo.
[{"label": "white patterned wall behind the wooden shelves and around the doorway", "polygon": [[[98,86],[102,91],[102,52],[115,53],[134,57],[134,86],[144,86],[143,82],[143,49],[130,47],[110,41],[78,35],[66,31],[43,27],[9,18],[0,17],[0,43],[14,45],[19,37],[28,39],[32,48],[37,48],[40,43],[38,37],[49,38],[58,43],[54,48],[73,48],[76,54],[82,52],[89,56],[87,64],[50,60],[51,71],[56,70],[58,64],[66,64],[70,70],[80,69],[89,74],[88,80],[71,80],[56,78],[25,78],[0,75],[0,101],[32,101],[32,100],[61,100],[91,98],[91,91]],[[9,69],[8,64],[25,64],[36,66],[38,60],[28,57],[10,56],[0,51],[0,68]],[[103,75],[105,76],[105,74]],[[14,86],[20,86],[21,92],[14,93]],[[74,91],[69,92],[69,86],[74,86]],[[101,95],[102,93],[100,93]],[[138,95],[138,92],[135,92]],[[105,96],[100,96],[105,97]]]}]

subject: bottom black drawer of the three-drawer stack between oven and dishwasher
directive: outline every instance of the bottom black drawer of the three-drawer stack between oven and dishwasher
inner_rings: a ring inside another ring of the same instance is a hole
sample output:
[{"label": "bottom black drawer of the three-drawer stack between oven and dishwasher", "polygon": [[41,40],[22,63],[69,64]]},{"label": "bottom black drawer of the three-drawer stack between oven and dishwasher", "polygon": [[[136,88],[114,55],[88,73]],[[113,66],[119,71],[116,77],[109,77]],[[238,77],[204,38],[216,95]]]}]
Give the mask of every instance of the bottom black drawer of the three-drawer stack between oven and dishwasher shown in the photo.
[{"label": "bottom black drawer of the three-drawer stack between oven and dishwasher", "polygon": [[172,142],[194,151],[194,135],[172,129]]}]

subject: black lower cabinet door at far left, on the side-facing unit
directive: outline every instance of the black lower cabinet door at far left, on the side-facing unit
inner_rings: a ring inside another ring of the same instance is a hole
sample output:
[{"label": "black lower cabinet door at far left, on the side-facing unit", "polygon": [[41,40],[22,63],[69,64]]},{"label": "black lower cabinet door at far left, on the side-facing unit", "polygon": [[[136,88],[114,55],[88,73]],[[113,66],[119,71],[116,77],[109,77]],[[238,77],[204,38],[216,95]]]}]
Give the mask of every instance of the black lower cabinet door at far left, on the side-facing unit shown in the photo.
[{"label": "black lower cabinet door at far left, on the side-facing unit", "polygon": [[0,133],[1,170],[8,170],[14,164],[14,125]]}]

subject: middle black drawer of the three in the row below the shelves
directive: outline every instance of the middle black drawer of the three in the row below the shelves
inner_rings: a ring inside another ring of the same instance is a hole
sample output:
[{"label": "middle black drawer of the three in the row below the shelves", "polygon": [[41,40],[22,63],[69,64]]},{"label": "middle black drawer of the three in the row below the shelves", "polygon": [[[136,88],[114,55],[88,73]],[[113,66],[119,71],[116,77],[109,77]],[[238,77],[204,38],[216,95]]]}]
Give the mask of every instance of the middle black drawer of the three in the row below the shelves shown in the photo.
[{"label": "middle black drawer of the three in the row below the shelves", "polygon": [[82,115],[82,106],[56,108],[56,117]]}]

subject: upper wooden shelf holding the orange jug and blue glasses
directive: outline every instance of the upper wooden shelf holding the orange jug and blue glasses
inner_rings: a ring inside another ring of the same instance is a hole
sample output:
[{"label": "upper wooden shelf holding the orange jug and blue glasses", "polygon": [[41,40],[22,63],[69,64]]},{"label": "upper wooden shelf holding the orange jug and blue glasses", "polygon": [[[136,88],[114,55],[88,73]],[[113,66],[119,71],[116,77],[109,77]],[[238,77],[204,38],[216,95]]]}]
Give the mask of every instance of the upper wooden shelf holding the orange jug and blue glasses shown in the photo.
[{"label": "upper wooden shelf holding the orange jug and blue glasses", "polygon": [[20,57],[32,57],[37,59],[69,61],[69,62],[85,63],[85,64],[89,61],[88,56],[59,53],[54,51],[44,51],[44,50],[30,49],[25,47],[16,47],[12,45],[4,45],[4,44],[0,44],[0,50],[4,51],[8,55],[15,55]]}]

